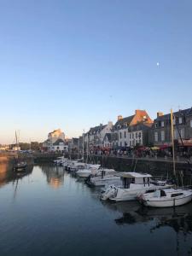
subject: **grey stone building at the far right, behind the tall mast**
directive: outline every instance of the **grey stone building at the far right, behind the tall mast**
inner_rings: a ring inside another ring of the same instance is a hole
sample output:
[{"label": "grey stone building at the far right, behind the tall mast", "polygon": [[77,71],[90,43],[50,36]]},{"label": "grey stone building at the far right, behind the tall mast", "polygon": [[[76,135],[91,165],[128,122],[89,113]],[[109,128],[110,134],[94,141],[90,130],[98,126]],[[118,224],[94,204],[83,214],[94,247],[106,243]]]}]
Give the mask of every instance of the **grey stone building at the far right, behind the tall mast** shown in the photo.
[{"label": "grey stone building at the far right, behind the tall mast", "polygon": [[[192,108],[173,113],[174,140],[192,146]],[[157,113],[152,137],[155,146],[172,146],[171,113]],[[182,141],[181,141],[182,140]]]}]

